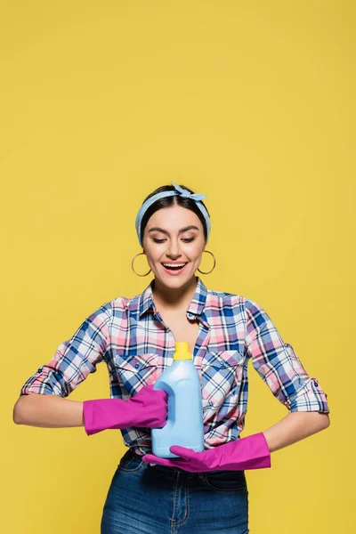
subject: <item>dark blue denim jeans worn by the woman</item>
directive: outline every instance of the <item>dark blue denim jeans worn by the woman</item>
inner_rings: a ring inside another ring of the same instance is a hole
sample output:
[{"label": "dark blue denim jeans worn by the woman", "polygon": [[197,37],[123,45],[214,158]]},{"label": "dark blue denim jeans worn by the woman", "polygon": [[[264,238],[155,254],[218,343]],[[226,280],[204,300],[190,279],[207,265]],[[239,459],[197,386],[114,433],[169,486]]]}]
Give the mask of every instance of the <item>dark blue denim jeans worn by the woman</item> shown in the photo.
[{"label": "dark blue denim jeans worn by the woman", "polygon": [[128,449],[106,498],[101,534],[247,534],[244,471],[189,473]]}]

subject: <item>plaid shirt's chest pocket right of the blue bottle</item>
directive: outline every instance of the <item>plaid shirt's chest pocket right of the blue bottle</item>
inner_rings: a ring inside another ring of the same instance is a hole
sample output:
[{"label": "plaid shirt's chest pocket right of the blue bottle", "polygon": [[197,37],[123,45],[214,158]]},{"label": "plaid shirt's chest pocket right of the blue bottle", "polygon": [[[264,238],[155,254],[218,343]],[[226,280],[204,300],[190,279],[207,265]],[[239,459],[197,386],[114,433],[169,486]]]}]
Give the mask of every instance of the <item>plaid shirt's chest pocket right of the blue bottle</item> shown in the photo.
[{"label": "plaid shirt's chest pocket right of the blue bottle", "polygon": [[227,397],[232,394],[238,397],[244,361],[244,356],[239,351],[206,352],[200,368],[205,406],[219,409]]}]

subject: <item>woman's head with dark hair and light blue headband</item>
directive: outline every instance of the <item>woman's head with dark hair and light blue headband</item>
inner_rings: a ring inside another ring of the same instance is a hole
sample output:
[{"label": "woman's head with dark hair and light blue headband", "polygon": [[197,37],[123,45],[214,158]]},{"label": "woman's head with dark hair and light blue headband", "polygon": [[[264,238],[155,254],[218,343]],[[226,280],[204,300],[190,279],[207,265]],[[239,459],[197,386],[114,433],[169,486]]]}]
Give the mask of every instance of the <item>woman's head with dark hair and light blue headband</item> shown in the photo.
[{"label": "woman's head with dark hair and light blue headband", "polygon": [[[181,194],[177,195],[177,191]],[[182,292],[186,298],[194,294],[194,273],[211,229],[203,198],[205,195],[173,182],[145,198],[137,214],[136,231],[155,275],[154,295],[157,302],[161,301],[161,309],[166,307],[164,301],[169,303],[172,298],[176,307]]]}]

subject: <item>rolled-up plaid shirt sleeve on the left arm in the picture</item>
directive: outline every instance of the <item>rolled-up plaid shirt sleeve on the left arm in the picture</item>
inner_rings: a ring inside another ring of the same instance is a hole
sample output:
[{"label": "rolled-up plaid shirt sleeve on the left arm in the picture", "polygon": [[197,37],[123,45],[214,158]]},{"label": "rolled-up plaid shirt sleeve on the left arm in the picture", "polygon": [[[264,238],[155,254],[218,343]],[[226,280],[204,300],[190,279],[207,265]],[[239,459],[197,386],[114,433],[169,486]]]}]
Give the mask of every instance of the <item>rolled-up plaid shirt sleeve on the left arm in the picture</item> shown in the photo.
[{"label": "rolled-up plaid shirt sleeve on the left arm in the picture", "polygon": [[20,389],[20,395],[42,393],[68,397],[104,359],[109,344],[111,303],[104,303],[62,342],[53,359],[36,370]]}]

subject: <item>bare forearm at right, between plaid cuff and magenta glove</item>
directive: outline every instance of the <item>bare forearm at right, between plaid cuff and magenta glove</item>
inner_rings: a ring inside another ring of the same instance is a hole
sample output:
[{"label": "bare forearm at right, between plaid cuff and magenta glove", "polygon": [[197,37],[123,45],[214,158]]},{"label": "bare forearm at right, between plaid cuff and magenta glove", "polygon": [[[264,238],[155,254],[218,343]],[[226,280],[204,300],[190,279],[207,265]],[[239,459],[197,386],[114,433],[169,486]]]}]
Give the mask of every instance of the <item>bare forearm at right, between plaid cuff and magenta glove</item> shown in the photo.
[{"label": "bare forearm at right, between plaid cuff and magenta glove", "polygon": [[328,414],[320,412],[291,412],[278,423],[263,431],[271,452],[283,449],[314,433],[328,428]]}]

